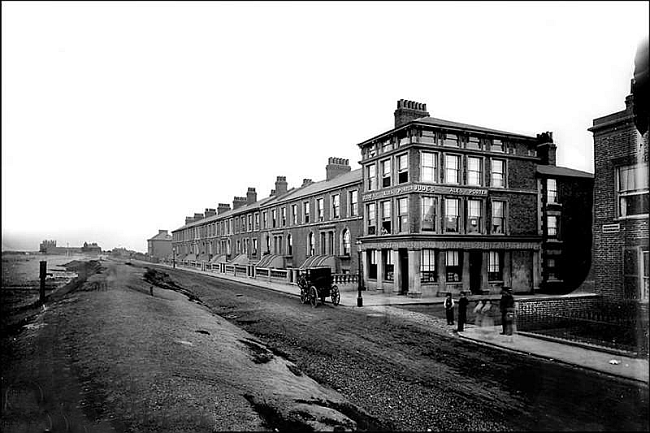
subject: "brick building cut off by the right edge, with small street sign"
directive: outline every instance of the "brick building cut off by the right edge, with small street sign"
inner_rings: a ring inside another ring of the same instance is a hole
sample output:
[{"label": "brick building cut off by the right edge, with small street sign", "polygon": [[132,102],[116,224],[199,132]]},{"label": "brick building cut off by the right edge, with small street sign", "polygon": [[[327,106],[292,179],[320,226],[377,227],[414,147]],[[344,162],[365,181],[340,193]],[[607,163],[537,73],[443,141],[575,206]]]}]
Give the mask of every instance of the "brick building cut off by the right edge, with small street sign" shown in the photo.
[{"label": "brick building cut off by the right edge, with small street sign", "polygon": [[648,302],[648,132],[625,110],[594,119],[595,290],[603,297]]}]

